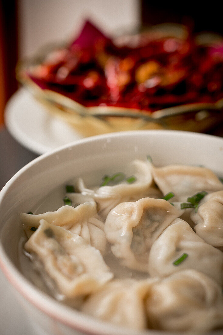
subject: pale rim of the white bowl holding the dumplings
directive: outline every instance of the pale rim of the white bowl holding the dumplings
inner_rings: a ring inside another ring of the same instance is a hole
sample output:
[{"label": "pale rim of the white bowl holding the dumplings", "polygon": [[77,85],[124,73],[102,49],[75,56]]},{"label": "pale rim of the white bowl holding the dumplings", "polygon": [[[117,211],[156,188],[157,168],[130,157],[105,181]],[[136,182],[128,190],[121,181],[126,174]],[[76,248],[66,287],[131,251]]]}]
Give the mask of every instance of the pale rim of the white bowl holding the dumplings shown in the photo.
[{"label": "pale rim of the white bowl holding the dumplings", "polygon": [[[97,136],[92,136],[84,139],[80,139],[78,141],[74,141],[68,144],[65,144],[51,152],[47,152],[25,166],[23,166],[3,187],[0,191],[0,203],[4,199],[7,194],[10,186],[16,181],[16,179],[30,169],[36,163],[39,163],[45,159],[48,159],[51,156],[57,155],[60,152],[73,148],[75,146],[81,146],[88,142],[98,142],[101,140],[106,140],[107,138],[113,137],[129,137],[135,136],[140,137],[145,134],[153,134],[152,136],[164,136],[168,134],[168,136],[180,136],[184,138],[195,137],[195,138],[205,138],[205,139],[213,139],[218,140],[221,146],[223,145],[223,138],[209,135],[209,134],[200,134],[194,132],[187,131],[175,131],[175,130],[138,130],[138,131],[125,131],[125,132],[116,132],[109,134],[102,134]],[[16,268],[16,266],[11,262],[6,252],[4,251],[3,246],[0,242],[0,268],[3,271],[4,275],[10,282],[12,286],[16,288],[16,290],[34,307],[42,311],[44,314],[47,314],[52,319],[60,322],[63,325],[70,327],[71,329],[84,332],[85,334],[91,335],[138,335],[139,332],[135,330],[131,330],[124,327],[118,327],[107,322],[103,322],[101,320],[97,320],[88,315],[85,315],[79,311],[76,311],[60,302],[55,300],[53,297],[48,295],[47,293],[42,292],[40,289],[35,287],[25,276]],[[147,335],[157,335],[157,331],[155,330],[143,330],[140,334]],[[159,332],[159,334],[162,334]],[[164,333],[163,333],[164,334]],[[171,334],[171,332],[165,332],[165,334]],[[179,334],[179,333],[174,333]]]}]

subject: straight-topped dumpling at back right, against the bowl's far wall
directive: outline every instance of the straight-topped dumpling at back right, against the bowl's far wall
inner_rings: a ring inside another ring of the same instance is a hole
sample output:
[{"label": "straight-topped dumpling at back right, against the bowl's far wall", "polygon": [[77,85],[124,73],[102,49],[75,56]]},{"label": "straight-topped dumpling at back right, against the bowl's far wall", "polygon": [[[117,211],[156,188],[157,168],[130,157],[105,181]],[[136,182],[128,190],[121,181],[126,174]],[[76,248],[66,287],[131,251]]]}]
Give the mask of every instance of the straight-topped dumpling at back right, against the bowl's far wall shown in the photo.
[{"label": "straight-topped dumpling at back right, against the bowl's far wall", "polygon": [[188,197],[202,191],[208,193],[223,190],[223,184],[209,169],[199,166],[167,165],[152,166],[155,183],[163,194],[173,192],[174,201],[186,201]]}]

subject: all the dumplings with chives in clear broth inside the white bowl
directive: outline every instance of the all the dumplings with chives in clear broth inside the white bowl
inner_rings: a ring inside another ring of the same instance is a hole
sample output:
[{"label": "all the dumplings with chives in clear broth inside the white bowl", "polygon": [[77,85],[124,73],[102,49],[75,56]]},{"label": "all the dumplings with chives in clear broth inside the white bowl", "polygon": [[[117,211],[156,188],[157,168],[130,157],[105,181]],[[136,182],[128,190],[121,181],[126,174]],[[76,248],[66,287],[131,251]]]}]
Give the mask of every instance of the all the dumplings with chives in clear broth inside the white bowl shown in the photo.
[{"label": "all the dumplings with chives in clear broth inside the white bowl", "polygon": [[148,156],[94,187],[78,178],[62,202],[20,214],[28,273],[51,295],[138,331],[223,327],[223,184],[212,171]]}]

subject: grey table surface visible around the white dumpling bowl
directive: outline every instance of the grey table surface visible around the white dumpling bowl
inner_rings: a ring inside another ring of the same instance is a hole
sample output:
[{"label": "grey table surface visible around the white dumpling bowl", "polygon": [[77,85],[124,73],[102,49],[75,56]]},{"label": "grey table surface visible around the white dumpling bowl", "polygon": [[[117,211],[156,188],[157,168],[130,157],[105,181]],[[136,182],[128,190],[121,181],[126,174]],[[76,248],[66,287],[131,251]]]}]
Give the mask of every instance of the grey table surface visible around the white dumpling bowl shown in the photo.
[{"label": "grey table surface visible around the white dumpling bowl", "polygon": [[[223,137],[223,124],[208,132]],[[21,146],[9,134],[5,127],[0,128],[0,190],[7,181],[25,164],[38,157],[35,153]],[[14,298],[12,288],[8,285],[3,273],[0,271],[0,334],[23,335],[41,334],[30,326],[29,321]],[[4,308],[3,308],[4,306]]]}]

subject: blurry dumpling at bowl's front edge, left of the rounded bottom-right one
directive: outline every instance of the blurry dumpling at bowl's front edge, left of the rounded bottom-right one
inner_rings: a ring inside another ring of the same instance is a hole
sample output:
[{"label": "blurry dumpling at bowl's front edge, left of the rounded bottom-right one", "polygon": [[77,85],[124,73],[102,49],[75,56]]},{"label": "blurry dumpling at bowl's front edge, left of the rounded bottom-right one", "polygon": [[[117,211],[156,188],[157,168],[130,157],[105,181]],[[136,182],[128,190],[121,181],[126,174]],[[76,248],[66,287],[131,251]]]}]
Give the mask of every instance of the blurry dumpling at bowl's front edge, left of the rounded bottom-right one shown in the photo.
[{"label": "blurry dumpling at bowl's front edge, left of the rounded bottom-right one", "polygon": [[144,299],[154,281],[113,280],[90,295],[82,312],[117,326],[144,329],[147,326]]}]

